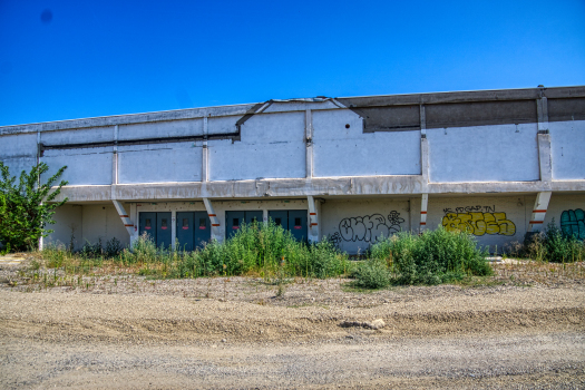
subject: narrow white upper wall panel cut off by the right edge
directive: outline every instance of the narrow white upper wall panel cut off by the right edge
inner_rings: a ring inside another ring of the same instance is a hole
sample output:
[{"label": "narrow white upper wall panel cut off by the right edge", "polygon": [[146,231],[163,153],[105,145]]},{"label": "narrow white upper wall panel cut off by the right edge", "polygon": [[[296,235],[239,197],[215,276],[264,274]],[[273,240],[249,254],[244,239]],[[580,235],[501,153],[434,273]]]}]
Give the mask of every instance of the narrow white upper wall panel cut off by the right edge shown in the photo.
[{"label": "narrow white upper wall panel cut off by the right edge", "polygon": [[553,179],[585,178],[585,120],[552,121],[550,154]]}]

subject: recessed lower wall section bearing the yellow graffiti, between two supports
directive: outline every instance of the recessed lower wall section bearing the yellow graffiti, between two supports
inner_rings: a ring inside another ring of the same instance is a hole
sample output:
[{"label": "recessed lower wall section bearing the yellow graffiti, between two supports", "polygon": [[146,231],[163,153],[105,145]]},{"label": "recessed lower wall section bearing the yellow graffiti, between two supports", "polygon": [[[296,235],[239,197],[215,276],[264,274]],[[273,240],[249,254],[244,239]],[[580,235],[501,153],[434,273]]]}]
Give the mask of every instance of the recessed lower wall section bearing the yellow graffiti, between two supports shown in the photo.
[{"label": "recessed lower wall section bearing the yellow graffiti, between two supports", "polygon": [[433,197],[429,196],[427,228],[467,230],[480,246],[501,253],[505,244],[521,243],[534,198],[525,196]]}]

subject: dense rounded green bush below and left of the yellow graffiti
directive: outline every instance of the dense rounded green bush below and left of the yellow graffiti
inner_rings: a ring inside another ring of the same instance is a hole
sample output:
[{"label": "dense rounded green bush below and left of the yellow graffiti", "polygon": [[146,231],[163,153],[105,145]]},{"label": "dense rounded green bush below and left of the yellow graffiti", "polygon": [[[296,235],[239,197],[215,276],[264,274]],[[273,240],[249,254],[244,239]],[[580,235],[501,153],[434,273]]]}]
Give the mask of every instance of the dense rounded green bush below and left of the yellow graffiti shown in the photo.
[{"label": "dense rounded green bush below and left of the yellow graffiti", "polygon": [[388,264],[397,284],[430,285],[466,275],[490,275],[486,255],[470,234],[442,227],[422,235],[399,233],[371,248],[372,259]]}]

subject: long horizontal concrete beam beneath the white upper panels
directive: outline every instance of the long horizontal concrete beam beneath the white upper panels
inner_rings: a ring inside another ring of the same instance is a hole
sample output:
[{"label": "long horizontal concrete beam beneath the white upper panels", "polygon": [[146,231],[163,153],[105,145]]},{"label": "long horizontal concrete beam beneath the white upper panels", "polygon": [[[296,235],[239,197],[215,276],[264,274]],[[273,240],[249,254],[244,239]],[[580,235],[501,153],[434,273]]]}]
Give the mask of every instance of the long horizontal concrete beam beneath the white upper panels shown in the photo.
[{"label": "long horizontal concrete beam beneath the white upper panels", "polygon": [[585,192],[585,181],[423,183],[420,175],[325,177],[299,179],[260,179],[207,183],[123,184],[66,186],[59,202],[183,201],[275,198],[306,196],[419,195],[419,194],[494,194],[539,192]]}]

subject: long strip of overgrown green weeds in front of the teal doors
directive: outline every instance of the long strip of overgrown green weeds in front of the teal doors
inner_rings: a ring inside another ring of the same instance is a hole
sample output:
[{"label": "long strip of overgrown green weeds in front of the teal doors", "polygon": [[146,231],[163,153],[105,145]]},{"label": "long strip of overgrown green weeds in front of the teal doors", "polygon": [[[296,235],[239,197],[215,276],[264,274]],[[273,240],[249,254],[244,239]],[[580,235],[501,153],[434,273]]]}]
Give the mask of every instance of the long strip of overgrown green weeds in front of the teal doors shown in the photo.
[{"label": "long strip of overgrown green weeds in front of the teal doors", "polygon": [[223,243],[213,241],[203,248],[157,247],[147,235],[140,236],[131,250],[121,250],[119,242],[86,245],[77,253],[65,247],[42,252],[49,267],[66,272],[89,272],[95,267],[125,267],[130,273],[153,277],[201,277],[257,274],[283,280],[289,276],[337,276],[348,270],[348,256],[331,243],[308,244],[296,241],[291,232],[270,224],[243,225]]}]

